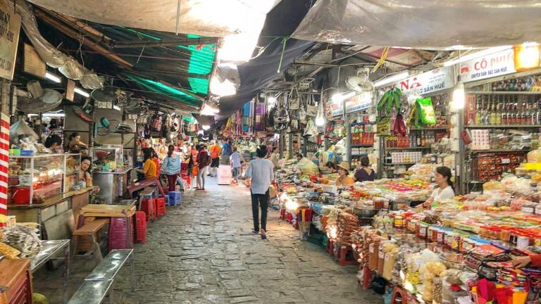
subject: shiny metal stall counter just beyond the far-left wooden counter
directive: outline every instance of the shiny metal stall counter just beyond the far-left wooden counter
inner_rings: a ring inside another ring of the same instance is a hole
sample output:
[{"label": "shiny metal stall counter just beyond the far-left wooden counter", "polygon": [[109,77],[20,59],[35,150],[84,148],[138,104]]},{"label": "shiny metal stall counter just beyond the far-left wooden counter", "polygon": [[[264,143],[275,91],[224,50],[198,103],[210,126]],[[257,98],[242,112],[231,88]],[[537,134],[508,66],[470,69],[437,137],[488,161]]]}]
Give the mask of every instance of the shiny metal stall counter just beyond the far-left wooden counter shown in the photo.
[{"label": "shiny metal stall counter just beyond the far-left wooden counter", "polygon": [[94,186],[99,186],[99,198],[108,204],[116,203],[128,186],[131,170],[130,168],[114,172],[94,172],[92,182]]}]

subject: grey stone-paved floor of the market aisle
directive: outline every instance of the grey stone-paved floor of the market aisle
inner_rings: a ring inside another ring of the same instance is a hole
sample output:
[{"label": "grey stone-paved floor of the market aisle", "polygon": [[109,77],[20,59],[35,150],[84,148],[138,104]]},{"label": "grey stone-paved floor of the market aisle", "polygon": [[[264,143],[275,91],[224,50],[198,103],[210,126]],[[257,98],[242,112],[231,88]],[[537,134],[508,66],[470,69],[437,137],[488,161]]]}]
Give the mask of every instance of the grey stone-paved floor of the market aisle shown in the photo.
[{"label": "grey stone-paved floor of the market aisle", "polygon": [[[147,227],[135,247],[138,286],[128,267],[118,274],[115,303],[383,303],[363,291],[356,267],[341,267],[323,248],[299,240],[298,231],[270,211],[268,241],[251,234],[249,191],[218,186],[188,191],[181,206]],[[94,267],[77,259],[71,295]],[[35,274],[35,292],[61,303],[61,271]]]}]

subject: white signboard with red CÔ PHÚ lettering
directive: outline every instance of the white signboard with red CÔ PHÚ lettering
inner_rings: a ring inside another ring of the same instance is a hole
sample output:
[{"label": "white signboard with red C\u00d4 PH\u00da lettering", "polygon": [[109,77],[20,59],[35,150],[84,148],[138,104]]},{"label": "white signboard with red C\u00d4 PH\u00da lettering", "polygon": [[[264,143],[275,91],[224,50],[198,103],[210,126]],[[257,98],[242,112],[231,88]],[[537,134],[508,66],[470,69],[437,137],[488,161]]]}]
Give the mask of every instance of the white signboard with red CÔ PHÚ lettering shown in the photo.
[{"label": "white signboard with red C\u00d4 PH\u00da lettering", "polygon": [[464,61],[459,64],[462,82],[473,82],[516,72],[513,49]]}]

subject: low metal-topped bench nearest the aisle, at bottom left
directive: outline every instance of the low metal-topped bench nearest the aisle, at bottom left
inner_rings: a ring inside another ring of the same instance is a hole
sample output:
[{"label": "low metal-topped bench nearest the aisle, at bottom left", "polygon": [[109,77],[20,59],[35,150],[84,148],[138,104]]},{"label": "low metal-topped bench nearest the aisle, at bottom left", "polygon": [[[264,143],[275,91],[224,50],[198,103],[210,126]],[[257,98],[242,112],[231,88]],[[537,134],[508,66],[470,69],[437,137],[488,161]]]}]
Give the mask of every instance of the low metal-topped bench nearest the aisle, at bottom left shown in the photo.
[{"label": "low metal-topped bench nearest the aisle, at bottom left", "polygon": [[106,257],[90,272],[85,282],[75,291],[68,304],[99,304],[106,296],[109,303],[113,301],[113,283],[116,275],[125,263],[130,264],[130,277],[132,291],[135,291],[135,258],[133,249],[116,249],[108,253]]}]

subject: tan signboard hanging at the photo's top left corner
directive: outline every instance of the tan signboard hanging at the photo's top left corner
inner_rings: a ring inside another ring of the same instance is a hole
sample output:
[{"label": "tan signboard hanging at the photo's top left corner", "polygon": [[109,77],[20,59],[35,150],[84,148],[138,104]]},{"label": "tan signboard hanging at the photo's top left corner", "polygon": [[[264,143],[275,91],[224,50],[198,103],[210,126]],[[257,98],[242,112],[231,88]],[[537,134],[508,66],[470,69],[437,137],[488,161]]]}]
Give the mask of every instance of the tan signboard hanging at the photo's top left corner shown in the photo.
[{"label": "tan signboard hanging at the photo's top left corner", "polygon": [[13,12],[13,4],[0,0],[0,77],[7,80],[13,80],[19,30],[20,15]]}]

